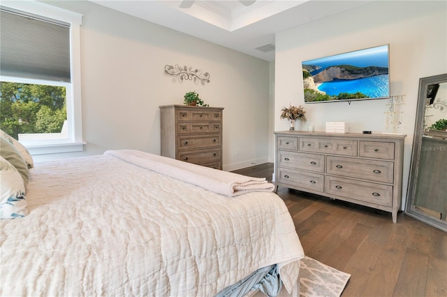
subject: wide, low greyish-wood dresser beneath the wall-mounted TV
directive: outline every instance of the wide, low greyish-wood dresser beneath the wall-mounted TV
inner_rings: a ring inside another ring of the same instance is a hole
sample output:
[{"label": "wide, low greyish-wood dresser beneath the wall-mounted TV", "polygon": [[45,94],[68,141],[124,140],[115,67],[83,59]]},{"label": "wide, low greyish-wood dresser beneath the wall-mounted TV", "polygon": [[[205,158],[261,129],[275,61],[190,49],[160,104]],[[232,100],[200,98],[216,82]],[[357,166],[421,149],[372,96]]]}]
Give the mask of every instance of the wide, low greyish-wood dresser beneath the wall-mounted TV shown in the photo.
[{"label": "wide, low greyish-wood dresser beneath the wall-mounted TV", "polygon": [[405,135],[275,132],[275,182],[385,210],[397,222]]}]

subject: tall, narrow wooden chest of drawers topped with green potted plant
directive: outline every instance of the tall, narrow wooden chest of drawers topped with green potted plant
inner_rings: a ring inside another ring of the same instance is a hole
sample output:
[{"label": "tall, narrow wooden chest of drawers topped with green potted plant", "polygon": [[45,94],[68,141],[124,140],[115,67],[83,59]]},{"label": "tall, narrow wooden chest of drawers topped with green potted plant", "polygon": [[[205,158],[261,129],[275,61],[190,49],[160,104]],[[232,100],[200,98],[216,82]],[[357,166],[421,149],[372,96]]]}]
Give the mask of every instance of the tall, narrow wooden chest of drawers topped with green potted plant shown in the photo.
[{"label": "tall, narrow wooden chest of drawers topped with green potted plant", "polygon": [[161,155],[222,169],[223,108],[160,106]]}]

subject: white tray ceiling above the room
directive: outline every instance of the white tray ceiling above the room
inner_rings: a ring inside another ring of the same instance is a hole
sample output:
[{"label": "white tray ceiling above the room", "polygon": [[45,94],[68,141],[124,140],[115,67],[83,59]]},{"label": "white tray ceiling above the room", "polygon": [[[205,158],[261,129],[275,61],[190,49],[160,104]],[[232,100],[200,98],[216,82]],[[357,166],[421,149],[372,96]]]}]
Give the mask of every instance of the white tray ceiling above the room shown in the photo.
[{"label": "white tray ceiling above the room", "polygon": [[[179,0],[91,1],[267,61],[274,60],[269,49],[277,32],[371,2],[258,0],[244,6],[233,0],[196,0],[190,8],[179,8]],[[267,49],[256,49],[263,45]]]}]

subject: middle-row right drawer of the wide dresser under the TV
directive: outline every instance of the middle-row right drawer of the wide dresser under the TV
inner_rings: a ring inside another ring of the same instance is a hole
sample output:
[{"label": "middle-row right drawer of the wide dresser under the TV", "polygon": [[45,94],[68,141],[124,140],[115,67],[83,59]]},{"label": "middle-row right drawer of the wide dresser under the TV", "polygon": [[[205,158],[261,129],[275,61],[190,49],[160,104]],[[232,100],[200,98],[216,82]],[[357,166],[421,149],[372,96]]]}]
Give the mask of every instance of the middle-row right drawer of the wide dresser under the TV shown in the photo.
[{"label": "middle-row right drawer of the wide dresser under the TV", "polygon": [[393,183],[394,164],[388,161],[328,156],[326,173],[375,182]]}]

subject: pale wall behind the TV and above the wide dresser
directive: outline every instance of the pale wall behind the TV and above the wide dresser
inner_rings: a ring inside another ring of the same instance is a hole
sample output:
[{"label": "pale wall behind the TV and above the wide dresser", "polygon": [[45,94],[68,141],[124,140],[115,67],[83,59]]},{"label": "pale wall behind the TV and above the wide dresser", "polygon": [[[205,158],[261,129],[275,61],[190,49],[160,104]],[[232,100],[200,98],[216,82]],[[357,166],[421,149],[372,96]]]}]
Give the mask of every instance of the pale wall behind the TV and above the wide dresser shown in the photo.
[{"label": "pale wall behind the TV and above the wide dresser", "polygon": [[[321,1],[321,5],[324,2]],[[386,132],[388,100],[304,103],[301,62],[377,45],[390,45],[390,90],[405,96],[402,124],[405,133],[403,203],[406,200],[419,78],[447,72],[446,1],[374,1],[364,6],[276,36],[274,129],[287,130],[279,110],[288,103],[302,105],[316,131],[325,122],[348,122],[351,132]],[[301,125],[305,129],[305,125]],[[300,125],[297,124],[297,129]]]}]

